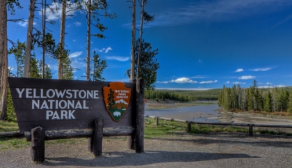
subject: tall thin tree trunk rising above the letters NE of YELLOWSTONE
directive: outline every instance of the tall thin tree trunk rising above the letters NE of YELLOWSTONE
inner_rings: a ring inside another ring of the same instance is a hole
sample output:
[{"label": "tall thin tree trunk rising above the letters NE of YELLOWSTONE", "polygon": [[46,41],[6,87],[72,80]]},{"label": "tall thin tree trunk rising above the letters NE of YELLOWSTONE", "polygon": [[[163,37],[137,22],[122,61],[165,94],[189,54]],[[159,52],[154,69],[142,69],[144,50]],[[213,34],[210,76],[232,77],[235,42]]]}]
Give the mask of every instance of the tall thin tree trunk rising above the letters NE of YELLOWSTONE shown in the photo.
[{"label": "tall thin tree trunk rising above the letters NE of YELLOWSTONE", "polygon": [[[88,1],[89,8],[87,13],[87,53],[86,53],[86,80],[90,80],[90,26],[91,26],[91,1]],[[94,72],[93,72],[94,73]],[[94,79],[93,79],[94,80]]]}]

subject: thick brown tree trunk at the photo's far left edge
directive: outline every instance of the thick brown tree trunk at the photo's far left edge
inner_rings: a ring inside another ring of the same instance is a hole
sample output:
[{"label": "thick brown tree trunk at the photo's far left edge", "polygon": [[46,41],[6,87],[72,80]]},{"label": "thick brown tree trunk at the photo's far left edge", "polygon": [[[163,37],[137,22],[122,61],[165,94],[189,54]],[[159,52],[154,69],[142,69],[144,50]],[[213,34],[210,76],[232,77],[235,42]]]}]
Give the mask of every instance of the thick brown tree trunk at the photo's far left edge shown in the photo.
[{"label": "thick brown tree trunk at the photo's far left edge", "polygon": [[8,50],[7,50],[7,8],[6,1],[0,2],[0,120],[7,116],[7,75],[8,75]]}]

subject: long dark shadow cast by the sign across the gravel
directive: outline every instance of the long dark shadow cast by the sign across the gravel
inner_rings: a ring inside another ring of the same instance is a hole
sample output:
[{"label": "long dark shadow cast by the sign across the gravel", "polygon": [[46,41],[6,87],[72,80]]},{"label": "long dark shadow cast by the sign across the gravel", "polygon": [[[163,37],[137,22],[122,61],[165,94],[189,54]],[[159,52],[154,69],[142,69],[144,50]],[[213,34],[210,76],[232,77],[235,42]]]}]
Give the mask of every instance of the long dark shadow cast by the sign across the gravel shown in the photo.
[{"label": "long dark shadow cast by the sign across the gravel", "polygon": [[111,152],[103,153],[102,158],[92,160],[78,158],[46,158],[44,166],[73,166],[73,167],[118,167],[143,166],[165,162],[199,162],[204,160],[220,160],[232,158],[259,158],[237,153],[200,153],[200,152],[170,152],[145,151],[145,153]]}]

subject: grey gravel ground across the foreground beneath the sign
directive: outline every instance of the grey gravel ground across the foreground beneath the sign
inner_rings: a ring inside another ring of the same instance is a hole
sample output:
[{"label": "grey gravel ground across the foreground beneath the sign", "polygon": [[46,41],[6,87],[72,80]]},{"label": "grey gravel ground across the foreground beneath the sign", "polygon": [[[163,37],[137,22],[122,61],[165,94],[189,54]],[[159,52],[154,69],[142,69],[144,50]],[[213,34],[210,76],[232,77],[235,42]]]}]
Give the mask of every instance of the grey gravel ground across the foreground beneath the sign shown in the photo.
[{"label": "grey gravel ground across the foreground beneath the sign", "polygon": [[0,167],[292,167],[292,138],[248,135],[172,135],[145,139],[145,153],[127,149],[124,137],[104,137],[102,158],[87,139],[46,145],[45,162],[31,163],[29,148],[0,151]]}]

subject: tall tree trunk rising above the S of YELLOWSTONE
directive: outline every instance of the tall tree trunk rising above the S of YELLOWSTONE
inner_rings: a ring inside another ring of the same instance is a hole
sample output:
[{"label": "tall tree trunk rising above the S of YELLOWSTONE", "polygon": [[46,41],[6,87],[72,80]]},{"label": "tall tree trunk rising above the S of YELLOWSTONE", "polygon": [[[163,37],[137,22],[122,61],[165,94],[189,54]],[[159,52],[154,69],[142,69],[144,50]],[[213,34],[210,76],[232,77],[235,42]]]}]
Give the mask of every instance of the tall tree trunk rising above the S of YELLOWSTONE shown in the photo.
[{"label": "tall tree trunk rising above the S of YELLOWSTONE", "polygon": [[67,6],[66,0],[63,0],[60,22],[60,55],[58,58],[58,79],[63,79],[63,52],[65,46],[66,6]]}]

